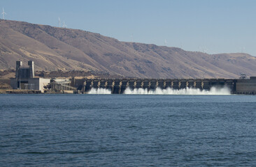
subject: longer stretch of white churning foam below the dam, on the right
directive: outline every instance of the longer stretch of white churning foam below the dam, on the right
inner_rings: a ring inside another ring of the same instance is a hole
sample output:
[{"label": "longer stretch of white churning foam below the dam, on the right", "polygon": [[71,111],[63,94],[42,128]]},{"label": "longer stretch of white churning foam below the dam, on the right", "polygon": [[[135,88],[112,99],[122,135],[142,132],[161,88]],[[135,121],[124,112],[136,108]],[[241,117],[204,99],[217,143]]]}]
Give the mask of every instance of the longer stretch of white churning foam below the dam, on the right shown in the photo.
[{"label": "longer stretch of white churning foam below the dam, on the right", "polygon": [[127,95],[231,95],[230,89],[227,87],[224,88],[215,88],[212,87],[211,90],[200,90],[199,88],[183,88],[180,90],[173,88],[156,88],[155,90],[148,90],[143,88],[136,88],[131,90],[127,88],[124,94]]}]

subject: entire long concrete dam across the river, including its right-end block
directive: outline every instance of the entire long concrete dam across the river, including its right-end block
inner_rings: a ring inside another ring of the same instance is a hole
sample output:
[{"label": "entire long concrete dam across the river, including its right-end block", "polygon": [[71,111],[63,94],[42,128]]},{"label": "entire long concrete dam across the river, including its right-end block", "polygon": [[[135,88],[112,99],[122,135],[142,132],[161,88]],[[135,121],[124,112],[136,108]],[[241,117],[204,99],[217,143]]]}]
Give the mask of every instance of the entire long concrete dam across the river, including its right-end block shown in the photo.
[{"label": "entire long concrete dam across the river, including its right-end block", "polygon": [[166,90],[211,90],[227,88],[230,94],[256,95],[256,77],[250,79],[72,79],[72,86],[81,93],[90,93],[92,89],[104,89],[112,94],[123,94],[125,90],[143,89],[146,91],[160,88]]}]

